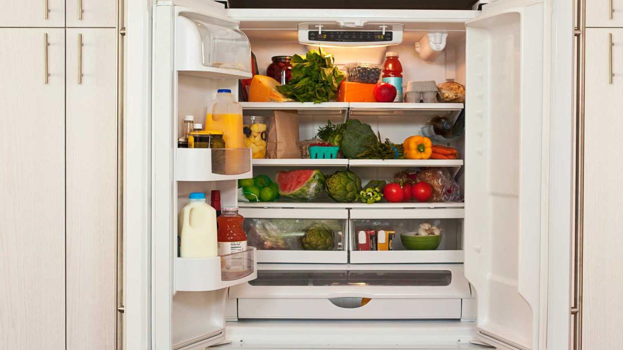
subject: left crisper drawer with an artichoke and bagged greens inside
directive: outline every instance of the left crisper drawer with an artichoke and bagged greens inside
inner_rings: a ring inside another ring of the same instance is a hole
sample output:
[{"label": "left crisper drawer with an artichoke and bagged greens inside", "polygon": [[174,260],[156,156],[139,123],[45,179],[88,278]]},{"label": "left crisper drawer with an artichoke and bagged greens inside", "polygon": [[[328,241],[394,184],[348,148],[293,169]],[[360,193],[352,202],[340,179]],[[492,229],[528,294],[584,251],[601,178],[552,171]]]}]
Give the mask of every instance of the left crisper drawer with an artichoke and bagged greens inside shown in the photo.
[{"label": "left crisper drawer with an artichoke and bagged greens inside", "polygon": [[257,262],[348,262],[348,210],[240,208],[240,214]]}]

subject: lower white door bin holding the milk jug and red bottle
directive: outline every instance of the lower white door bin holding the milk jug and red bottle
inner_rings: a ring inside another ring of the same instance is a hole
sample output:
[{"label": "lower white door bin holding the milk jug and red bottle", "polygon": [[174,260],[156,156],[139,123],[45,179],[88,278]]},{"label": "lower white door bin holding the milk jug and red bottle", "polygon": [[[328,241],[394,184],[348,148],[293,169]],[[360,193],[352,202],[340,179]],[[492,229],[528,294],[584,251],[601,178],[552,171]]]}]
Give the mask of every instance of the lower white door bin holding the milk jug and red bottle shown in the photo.
[{"label": "lower white door bin holding the milk jug and red bottle", "polygon": [[175,270],[177,291],[206,292],[231,287],[257,278],[255,248],[220,257],[178,257]]}]

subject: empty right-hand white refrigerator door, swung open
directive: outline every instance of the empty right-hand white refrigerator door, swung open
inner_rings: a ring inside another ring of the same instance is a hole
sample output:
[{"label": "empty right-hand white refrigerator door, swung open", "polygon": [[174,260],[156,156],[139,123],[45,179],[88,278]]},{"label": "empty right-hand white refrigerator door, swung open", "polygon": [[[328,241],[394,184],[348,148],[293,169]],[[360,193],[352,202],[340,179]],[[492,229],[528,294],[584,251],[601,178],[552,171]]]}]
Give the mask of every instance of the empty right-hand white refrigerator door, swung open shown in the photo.
[{"label": "empty right-hand white refrigerator door, swung open", "polygon": [[498,1],[467,27],[465,276],[478,338],[538,349],[543,172],[544,6]]}]

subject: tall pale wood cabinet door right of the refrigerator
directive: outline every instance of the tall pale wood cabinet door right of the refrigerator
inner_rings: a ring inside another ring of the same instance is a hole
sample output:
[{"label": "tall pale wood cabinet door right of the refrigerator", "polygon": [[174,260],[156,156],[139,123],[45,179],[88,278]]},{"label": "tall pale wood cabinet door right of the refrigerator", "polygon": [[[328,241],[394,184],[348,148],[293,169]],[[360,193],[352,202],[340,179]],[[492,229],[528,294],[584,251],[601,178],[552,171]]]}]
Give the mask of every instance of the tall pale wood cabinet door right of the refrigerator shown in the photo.
[{"label": "tall pale wood cabinet door right of the refrigerator", "polygon": [[604,334],[616,334],[623,324],[623,166],[618,156],[623,150],[623,29],[586,29],[585,57],[582,348],[617,349],[617,337]]}]

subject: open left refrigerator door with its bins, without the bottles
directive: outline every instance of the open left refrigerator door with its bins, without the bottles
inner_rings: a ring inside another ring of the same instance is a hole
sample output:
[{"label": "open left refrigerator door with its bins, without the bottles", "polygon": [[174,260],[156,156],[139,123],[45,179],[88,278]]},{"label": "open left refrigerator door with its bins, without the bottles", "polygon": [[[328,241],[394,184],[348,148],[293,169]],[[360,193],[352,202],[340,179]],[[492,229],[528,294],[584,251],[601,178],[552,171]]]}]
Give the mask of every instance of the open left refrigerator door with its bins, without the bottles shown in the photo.
[{"label": "open left refrigerator door with its bins, without the bottles", "polygon": [[[178,254],[178,213],[189,193],[221,191],[237,206],[237,180],[252,176],[250,149],[178,149],[184,116],[203,122],[218,89],[237,96],[250,78],[249,40],[214,1],[158,1],[153,12],[152,344],[204,349],[225,342],[227,288],[257,277],[255,249],[209,258]],[[244,270],[232,273],[232,261]],[[229,269],[229,270],[228,270]]]}]

